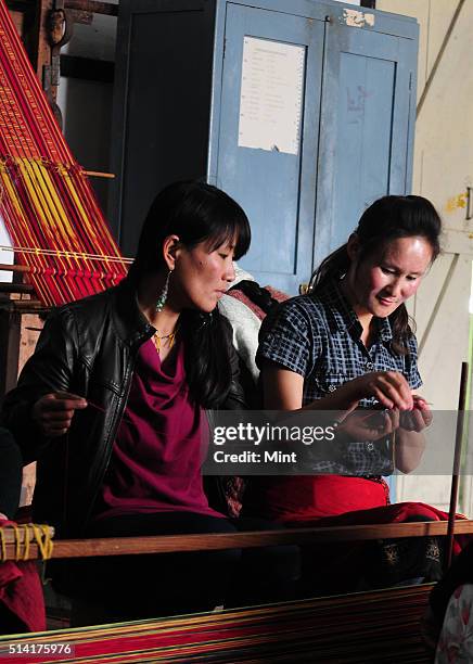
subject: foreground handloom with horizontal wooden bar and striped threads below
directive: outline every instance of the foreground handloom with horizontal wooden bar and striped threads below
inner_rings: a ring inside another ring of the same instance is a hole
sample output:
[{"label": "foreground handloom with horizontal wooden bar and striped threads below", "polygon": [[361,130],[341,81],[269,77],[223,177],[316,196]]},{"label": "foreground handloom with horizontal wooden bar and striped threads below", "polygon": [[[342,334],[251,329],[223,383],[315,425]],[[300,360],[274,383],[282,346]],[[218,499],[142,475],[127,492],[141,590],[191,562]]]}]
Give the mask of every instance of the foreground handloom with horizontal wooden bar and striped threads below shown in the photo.
[{"label": "foreground handloom with horizontal wooden bar and striped threads below", "polygon": [[[473,521],[459,520],[456,525],[458,534],[473,533]],[[205,536],[57,540],[47,554],[79,558],[355,541],[446,535],[447,527],[446,522],[392,523]],[[21,531],[9,526],[4,529],[3,560],[23,560],[25,549],[18,548],[16,541]],[[26,535],[27,532],[24,539]],[[40,551],[31,541],[29,558],[44,558],[44,549]],[[423,585],[248,610],[0,637],[0,653],[13,641],[26,647],[59,642],[74,647],[61,659],[48,660],[42,655],[36,660],[41,662],[73,662],[79,657],[81,662],[427,662],[420,620],[431,589],[431,585]]]}]

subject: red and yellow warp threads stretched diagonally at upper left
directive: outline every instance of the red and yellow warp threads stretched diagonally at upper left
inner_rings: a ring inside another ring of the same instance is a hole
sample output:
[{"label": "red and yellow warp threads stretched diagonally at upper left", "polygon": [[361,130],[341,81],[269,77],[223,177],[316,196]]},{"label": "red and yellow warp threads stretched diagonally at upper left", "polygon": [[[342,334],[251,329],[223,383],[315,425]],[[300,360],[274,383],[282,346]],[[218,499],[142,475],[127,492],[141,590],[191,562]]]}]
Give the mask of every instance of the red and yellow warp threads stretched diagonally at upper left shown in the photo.
[{"label": "red and yellow warp threads stretched diagonally at upper left", "polygon": [[0,0],[0,216],[41,302],[60,305],[127,272]]}]

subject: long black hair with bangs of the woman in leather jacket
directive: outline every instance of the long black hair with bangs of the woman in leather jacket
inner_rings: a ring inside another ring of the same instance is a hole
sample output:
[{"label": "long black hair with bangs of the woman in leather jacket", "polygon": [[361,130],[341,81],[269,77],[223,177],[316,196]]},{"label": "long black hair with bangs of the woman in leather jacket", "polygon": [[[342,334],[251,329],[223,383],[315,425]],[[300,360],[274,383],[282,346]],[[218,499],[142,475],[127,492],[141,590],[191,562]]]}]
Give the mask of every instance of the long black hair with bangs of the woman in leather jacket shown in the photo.
[{"label": "long black hair with bangs of the woman in leather jacket", "polygon": [[[145,274],[163,269],[163,242],[174,234],[188,250],[206,242],[212,252],[234,241],[235,260],[248,251],[251,242],[246,215],[228,194],[204,182],[175,182],[151,205],[128,278],[138,284]],[[203,314],[186,309],[179,330],[190,394],[204,408],[217,408],[231,383],[228,340],[218,310]]]}]

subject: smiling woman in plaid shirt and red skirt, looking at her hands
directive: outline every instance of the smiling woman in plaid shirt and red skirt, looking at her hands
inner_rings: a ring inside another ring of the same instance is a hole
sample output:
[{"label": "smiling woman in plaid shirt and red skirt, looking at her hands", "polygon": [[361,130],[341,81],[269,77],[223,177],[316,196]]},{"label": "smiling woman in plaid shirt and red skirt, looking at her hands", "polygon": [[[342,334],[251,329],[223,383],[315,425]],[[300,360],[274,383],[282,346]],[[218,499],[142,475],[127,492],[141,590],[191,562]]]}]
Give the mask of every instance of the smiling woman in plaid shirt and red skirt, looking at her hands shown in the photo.
[{"label": "smiling woman in plaid shirt and red skirt, looking at her hands", "polygon": [[[426,401],[413,393],[422,381],[405,302],[437,257],[440,230],[440,219],[426,199],[384,196],[363,213],[347,243],[321,264],[310,293],[285,302],[267,317],[257,354],[265,408],[336,411],[338,454],[315,464],[312,471],[320,474],[267,476],[251,483],[246,513],[301,526],[316,520],[320,525],[343,525],[444,516],[420,503],[389,506],[382,477],[394,467],[410,472],[419,464],[422,432],[432,420]],[[366,408],[383,410],[374,422]],[[324,577],[331,589],[333,576],[321,574],[321,566],[334,566],[341,590],[347,584],[357,587],[360,576],[369,577],[371,586],[436,577],[436,544],[424,540],[421,556],[419,546],[420,541],[412,547],[399,540],[372,546],[368,552],[362,545],[351,547],[349,556],[344,547],[343,563],[325,547],[317,551],[317,570],[314,549],[306,559],[315,585],[320,587]]]}]

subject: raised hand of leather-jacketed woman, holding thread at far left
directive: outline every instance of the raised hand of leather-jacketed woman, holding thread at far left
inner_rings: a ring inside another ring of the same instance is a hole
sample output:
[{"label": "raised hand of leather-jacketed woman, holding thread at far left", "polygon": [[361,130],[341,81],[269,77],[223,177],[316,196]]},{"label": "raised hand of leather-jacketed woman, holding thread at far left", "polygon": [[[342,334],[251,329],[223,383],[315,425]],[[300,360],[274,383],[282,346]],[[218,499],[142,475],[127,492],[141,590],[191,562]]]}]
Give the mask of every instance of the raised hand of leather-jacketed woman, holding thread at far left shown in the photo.
[{"label": "raised hand of leather-jacketed woman, holding thread at far left", "polygon": [[68,392],[53,392],[38,399],[33,419],[44,436],[63,436],[71,427],[76,410],[87,408],[87,400]]}]

